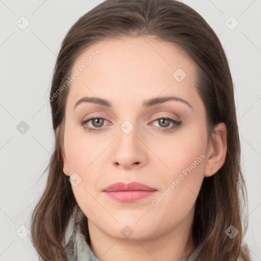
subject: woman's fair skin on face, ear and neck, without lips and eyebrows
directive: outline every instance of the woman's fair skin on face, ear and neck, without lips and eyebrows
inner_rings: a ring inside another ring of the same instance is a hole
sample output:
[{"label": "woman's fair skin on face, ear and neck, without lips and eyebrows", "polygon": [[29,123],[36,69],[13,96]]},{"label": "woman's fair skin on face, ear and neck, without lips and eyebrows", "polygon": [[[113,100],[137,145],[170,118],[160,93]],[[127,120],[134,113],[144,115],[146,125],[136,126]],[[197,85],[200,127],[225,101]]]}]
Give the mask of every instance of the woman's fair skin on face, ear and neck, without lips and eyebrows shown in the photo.
[{"label": "woman's fair skin on face, ear and neck, without lips and eyebrows", "polygon": [[[72,190],[88,217],[91,249],[102,261],[188,256],[196,248],[191,241],[186,248],[186,243],[202,181],[225,161],[226,126],[218,124],[208,142],[203,101],[195,91],[196,65],[177,47],[151,36],[100,41],[77,58],[72,71],[96,49],[101,54],[69,87],[62,148],[64,174],[76,172],[82,178]],[[187,74],[181,82],[172,76],[177,68]],[[175,100],[142,106],[147,99],[168,95],[186,100],[193,109]],[[107,99],[112,107],[83,102],[74,110],[85,96]],[[91,117],[106,119],[100,129],[95,121],[85,123],[98,131],[81,125]],[[174,124],[169,122],[169,131],[160,131],[164,117],[181,125],[170,129]],[[126,120],[134,126],[129,134],[121,129]],[[201,154],[204,159],[152,205]],[[117,181],[138,181],[158,191],[136,202],[117,202],[102,192]],[[121,233],[126,225],[133,230],[129,238]]]}]

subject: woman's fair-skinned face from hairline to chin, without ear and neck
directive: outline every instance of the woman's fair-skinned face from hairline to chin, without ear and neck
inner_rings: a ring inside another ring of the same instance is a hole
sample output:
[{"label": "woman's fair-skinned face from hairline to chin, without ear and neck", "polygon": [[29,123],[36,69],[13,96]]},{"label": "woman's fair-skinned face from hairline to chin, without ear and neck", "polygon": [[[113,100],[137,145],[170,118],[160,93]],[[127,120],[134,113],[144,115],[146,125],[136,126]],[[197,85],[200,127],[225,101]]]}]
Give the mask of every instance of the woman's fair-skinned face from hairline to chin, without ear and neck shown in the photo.
[{"label": "woman's fair-skinned face from hairline to chin, without ear and neck", "polygon": [[[208,151],[192,60],[151,37],[111,39],[88,47],[72,74],[64,173],[89,226],[118,239],[189,229]],[[134,181],[152,190],[105,191]]]}]

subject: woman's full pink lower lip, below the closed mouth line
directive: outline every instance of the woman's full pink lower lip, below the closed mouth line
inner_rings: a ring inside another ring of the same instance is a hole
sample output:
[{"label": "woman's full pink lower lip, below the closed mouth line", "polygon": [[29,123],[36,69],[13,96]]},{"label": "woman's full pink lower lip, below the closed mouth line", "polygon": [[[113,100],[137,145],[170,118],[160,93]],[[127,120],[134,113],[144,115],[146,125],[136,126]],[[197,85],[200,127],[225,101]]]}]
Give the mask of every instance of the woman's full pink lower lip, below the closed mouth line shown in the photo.
[{"label": "woman's full pink lower lip, below the closed mouth line", "polygon": [[117,201],[120,202],[134,202],[142,198],[147,198],[154,194],[156,191],[105,191],[106,194]]}]

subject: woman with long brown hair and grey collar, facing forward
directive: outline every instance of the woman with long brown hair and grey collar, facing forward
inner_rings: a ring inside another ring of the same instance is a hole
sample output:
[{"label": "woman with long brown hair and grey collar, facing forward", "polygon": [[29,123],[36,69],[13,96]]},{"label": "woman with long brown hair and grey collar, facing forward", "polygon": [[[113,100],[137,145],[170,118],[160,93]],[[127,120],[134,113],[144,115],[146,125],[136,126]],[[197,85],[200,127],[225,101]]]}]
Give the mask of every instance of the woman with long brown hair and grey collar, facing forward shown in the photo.
[{"label": "woman with long brown hair and grey collar, facing forward", "polygon": [[197,12],[99,4],[63,40],[48,99],[56,146],[31,228],[42,260],[249,260],[231,74]]}]

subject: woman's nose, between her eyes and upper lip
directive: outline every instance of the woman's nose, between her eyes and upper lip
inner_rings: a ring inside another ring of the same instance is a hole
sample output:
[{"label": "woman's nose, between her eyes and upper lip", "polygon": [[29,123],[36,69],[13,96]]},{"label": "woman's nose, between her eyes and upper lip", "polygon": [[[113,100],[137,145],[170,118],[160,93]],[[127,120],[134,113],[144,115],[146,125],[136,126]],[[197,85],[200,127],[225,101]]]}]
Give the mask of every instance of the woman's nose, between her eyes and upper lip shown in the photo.
[{"label": "woman's nose, between her eyes and upper lip", "polygon": [[137,128],[126,134],[120,129],[119,137],[114,142],[112,164],[122,169],[139,169],[147,163],[148,150],[137,133]]}]

